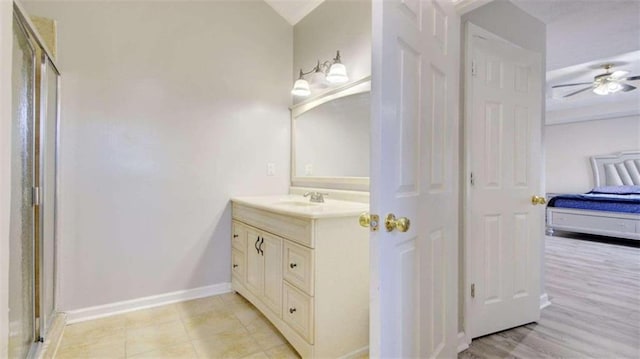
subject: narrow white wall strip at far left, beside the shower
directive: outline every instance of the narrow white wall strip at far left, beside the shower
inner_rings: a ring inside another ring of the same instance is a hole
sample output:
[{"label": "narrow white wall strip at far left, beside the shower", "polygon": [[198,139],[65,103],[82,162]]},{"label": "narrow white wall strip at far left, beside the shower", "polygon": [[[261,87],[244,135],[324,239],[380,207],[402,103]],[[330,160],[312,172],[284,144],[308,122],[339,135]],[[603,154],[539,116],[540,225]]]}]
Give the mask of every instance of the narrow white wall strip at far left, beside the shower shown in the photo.
[{"label": "narrow white wall strip at far left, beside the shower", "polygon": [[9,355],[12,2],[0,0],[0,358]]}]

